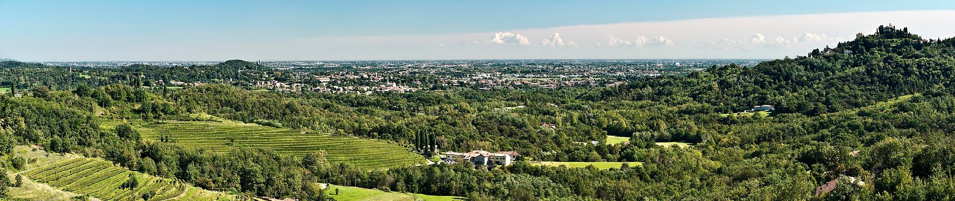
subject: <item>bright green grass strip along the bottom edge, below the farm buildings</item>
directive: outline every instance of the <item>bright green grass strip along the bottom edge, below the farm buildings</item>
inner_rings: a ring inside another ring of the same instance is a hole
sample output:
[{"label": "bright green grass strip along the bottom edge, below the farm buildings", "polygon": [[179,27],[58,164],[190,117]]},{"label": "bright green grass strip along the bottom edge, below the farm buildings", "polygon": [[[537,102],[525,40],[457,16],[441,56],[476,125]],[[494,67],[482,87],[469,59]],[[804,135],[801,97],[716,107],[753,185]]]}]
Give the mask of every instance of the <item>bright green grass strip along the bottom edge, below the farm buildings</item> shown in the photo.
[{"label": "bright green grass strip along the bottom edge, below the farm buildings", "polygon": [[[338,190],[338,194],[335,194],[335,189]],[[414,193],[402,193],[402,192],[386,192],[386,191],[377,191],[362,189],[357,187],[343,187],[332,185],[326,192],[329,192],[330,196],[335,198],[338,201],[377,201],[377,200],[389,200],[389,201],[453,201],[453,200],[463,200],[461,197],[455,196],[436,196],[436,195],[424,195],[424,194],[414,194]]]}]

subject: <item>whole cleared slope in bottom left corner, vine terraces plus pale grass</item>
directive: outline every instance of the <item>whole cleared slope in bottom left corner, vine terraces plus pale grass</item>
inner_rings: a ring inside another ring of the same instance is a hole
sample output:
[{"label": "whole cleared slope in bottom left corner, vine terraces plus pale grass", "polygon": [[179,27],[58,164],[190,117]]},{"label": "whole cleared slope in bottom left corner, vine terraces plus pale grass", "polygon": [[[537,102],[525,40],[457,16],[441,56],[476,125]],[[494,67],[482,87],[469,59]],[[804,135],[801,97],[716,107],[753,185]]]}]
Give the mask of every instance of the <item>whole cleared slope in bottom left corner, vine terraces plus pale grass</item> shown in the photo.
[{"label": "whole cleared slope in bottom left corner, vine terraces plus pale grass", "polygon": [[[31,150],[31,151],[27,151]],[[46,153],[20,146],[14,154],[36,159],[28,166],[24,186],[11,188],[15,198],[31,200],[63,200],[76,195],[89,195],[99,200],[136,200],[142,194],[153,192],[150,200],[232,200],[234,196],[216,191],[205,191],[174,179],[128,171],[101,158],[86,158],[71,154]],[[50,157],[34,157],[48,155]],[[133,173],[139,185],[123,189],[120,185]],[[15,175],[13,173],[12,175]],[[42,195],[33,197],[33,195]]]}]

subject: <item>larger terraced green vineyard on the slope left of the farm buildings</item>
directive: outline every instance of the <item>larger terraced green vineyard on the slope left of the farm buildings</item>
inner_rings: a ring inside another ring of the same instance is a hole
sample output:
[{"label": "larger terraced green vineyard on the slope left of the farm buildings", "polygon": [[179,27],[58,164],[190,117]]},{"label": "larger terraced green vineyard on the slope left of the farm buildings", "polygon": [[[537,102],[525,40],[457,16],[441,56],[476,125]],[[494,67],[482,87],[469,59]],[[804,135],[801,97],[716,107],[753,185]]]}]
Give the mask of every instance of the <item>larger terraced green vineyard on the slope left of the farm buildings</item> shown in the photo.
[{"label": "larger terraced green vineyard on the slope left of the farm buildings", "polygon": [[350,163],[372,170],[427,162],[424,157],[388,141],[303,133],[256,124],[164,121],[139,126],[138,130],[145,138],[159,140],[166,136],[182,146],[215,152],[264,148],[282,154],[304,156],[324,150],[329,161]]}]

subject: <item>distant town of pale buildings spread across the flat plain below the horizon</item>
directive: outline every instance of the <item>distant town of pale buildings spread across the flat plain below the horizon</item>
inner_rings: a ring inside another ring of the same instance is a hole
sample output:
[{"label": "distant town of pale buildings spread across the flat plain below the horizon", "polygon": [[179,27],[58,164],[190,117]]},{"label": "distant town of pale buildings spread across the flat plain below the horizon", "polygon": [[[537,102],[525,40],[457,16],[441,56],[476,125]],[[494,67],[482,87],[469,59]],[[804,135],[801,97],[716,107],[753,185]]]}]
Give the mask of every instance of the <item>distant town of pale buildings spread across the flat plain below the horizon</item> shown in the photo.
[{"label": "distant town of pale buildings spread across the flat plain below the horizon", "polygon": [[[220,77],[150,80],[154,86],[227,84],[248,90],[372,94],[418,90],[557,89],[615,87],[640,76],[689,73],[713,65],[753,66],[759,60],[541,60],[541,61],[253,61],[264,68],[223,72]],[[53,62],[74,68],[150,65],[202,70],[218,62]],[[346,70],[329,70],[346,69]],[[86,69],[82,69],[86,70]],[[84,72],[89,74],[89,71]],[[151,77],[143,77],[151,78]]]}]

